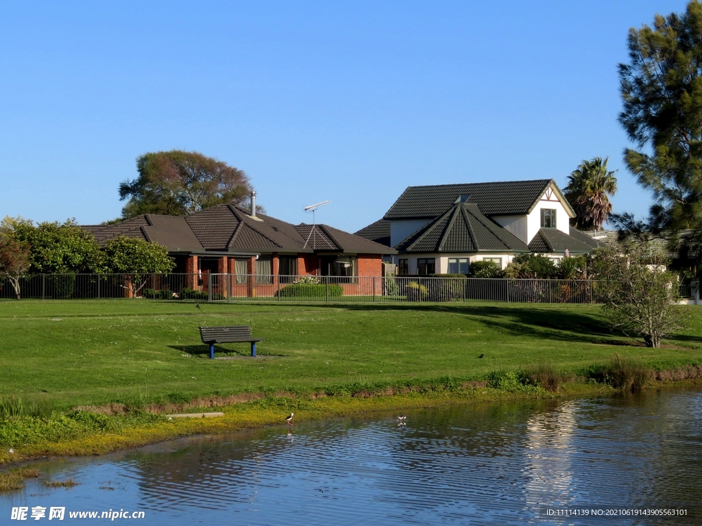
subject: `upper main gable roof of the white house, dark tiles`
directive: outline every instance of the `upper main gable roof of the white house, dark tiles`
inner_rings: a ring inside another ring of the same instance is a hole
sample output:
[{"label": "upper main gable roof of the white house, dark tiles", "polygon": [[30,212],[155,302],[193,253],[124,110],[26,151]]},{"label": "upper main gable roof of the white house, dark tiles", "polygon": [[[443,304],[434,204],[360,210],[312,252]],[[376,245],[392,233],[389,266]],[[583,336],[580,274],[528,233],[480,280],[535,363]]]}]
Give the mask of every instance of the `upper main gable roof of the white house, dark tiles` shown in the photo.
[{"label": "upper main gable roof of the white house, dark tiles", "polygon": [[487,216],[528,214],[549,184],[558,188],[552,179],[408,187],[383,219],[437,217],[456,203],[460,196],[467,196],[465,201],[476,203]]}]

